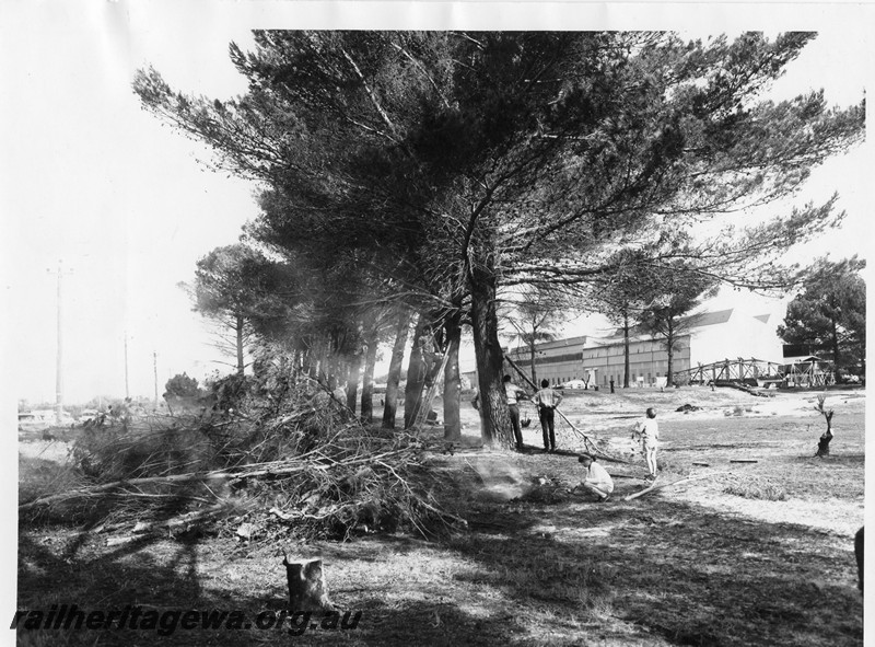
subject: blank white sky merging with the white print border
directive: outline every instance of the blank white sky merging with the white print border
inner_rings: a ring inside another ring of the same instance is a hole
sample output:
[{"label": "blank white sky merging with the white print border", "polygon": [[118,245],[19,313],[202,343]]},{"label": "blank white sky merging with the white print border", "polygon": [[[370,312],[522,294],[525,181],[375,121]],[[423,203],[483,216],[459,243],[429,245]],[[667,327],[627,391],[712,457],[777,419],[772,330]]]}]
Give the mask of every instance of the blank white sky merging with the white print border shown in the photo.
[{"label": "blank white sky merging with the white print border", "polygon": [[[450,26],[494,28],[677,28],[696,35],[807,28],[820,36],[774,86],[777,97],[825,88],[832,104],[858,102],[871,79],[871,5],[784,3],[663,5],[525,2],[0,2],[0,286],[7,397],[54,402],[61,276],[63,398],[152,396],[187,372],[229,369],[208,326],[177,286],[195,263],[232,244],[257,216],[255,187],[205,166],[210,152],[145,113],[136,70],[156,68],[187,93],[226,99],[245,91],[228,45],[244,49],[253,27]],[[14,63],[11,65],[11,61]],[[870,78],[867,78],[867,74]],[[865,255],[871,236],[871,147],[819,170],[806,196],[841,194],[848,218],[802,262]],[[805,196],[803,196],[805,197]],[[819,250],[819,251],[818,251]],[[723,294],[719,305],[732,304]],[[597,332],[597,317],[570,334]],[[158,380],[155,380],[155,374]]]}]

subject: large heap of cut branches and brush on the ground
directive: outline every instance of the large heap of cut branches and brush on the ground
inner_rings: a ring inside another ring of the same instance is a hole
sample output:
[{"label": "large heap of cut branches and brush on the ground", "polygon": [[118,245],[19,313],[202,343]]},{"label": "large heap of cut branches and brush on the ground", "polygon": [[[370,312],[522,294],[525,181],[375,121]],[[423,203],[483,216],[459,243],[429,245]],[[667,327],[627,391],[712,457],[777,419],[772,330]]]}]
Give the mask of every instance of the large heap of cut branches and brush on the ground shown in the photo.
[{"label": "large heap of cut branches and brush on the ground", "polygon": [[453,518],[432,496],[423,450],[410,435],[363,426],[304,376],[232,377],[210,407],[84,430],[63,486],[20,512],[122,533],[428,535]]}]

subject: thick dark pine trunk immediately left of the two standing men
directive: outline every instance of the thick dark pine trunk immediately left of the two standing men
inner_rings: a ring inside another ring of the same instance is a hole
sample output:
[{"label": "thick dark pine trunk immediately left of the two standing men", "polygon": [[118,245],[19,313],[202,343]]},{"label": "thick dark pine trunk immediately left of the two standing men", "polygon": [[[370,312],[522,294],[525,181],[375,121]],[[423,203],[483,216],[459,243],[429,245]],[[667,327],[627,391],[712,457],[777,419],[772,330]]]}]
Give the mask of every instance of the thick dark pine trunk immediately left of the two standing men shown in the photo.
[{"label": "thick dark pine trunk immediately left of the two standing men", "polygon": [[504,362],[495,312],[495,278],[482,265],[476,265],[471,275],[471,328],[480,393],[480,435],[486,444],[512,447],[511,416],[501,381]]}]

